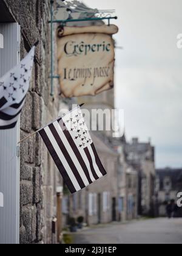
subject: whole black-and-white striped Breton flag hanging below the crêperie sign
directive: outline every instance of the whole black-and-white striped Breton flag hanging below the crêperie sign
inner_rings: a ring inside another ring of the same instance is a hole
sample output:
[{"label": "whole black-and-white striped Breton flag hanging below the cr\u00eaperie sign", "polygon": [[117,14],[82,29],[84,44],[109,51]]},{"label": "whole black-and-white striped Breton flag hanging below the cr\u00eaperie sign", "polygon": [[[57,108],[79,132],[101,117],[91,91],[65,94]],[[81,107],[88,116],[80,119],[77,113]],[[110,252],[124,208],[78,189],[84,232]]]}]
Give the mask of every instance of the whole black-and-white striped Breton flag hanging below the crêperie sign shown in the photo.
[{"label": "whole black-and-white striped Breton flag hanging below the cr\u00eaperie sign", "polygon": [[39,134],[71,193],[106,175],[80,107],[39,130]]}]

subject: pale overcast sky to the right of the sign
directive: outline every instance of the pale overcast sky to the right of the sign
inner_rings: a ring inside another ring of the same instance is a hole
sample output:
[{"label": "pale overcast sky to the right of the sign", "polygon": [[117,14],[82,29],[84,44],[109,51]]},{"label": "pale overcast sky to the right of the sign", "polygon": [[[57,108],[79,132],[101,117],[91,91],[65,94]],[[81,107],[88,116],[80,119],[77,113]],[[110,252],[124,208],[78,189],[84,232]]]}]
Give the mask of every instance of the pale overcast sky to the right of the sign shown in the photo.
[{"label": "pale overcast sky to the right of the sign", "polygon": [[116,9],[116,106],[125,112],[127,140],[156,146],[157,167],[182,167],[181,0],[84,0]]}]

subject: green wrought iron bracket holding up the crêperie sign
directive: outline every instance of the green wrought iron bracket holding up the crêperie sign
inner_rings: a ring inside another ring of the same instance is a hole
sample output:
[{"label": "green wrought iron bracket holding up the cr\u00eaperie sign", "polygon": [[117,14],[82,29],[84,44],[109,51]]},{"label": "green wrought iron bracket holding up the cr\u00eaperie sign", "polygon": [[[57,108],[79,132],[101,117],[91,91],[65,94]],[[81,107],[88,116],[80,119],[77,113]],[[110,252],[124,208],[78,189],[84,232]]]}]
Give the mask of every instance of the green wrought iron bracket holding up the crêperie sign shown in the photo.
[{"label": "green wrought iron bracket holding up the cr\u00eaperie sign", "polygon": [[[54,9],[55,0],[50,0],[50,33],[51,33],[51,68],[50,68],[50,79],[51,79],[51,91],[50,95],[54,96],[53,93],[53,84],[54,79],[59,79],[59,75],[54,74],[54,58],[53,58],[53,24],[61,24],[61,26],[66,26],[67,23],[78,23],[83,21],[108,21],[108,26],[110,26],[110,20],[117,20],[117,16],[111,16],[112,13],[115,13],[115,10],[97,10],[97,9],[89,9],[86,5],[81,2],[71,0],[69,2],[62,0],[56,0],[56,10]],[[67,19],[65,20],[57,20],[55,16],[59,16],[59,11],[61,10],[61,14],[63,13]],[[74,17],[78,18],[74,18]]]}]

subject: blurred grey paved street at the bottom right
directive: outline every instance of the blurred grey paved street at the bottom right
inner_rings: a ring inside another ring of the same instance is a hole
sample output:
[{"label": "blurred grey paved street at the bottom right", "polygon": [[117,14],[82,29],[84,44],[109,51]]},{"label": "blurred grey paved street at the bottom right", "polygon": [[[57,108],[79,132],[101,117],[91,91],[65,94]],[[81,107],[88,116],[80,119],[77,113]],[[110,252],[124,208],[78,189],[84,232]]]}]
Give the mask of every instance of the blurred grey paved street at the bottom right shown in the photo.
[{"label": "blurred grey paved street at the bottom right", "polygon": [[84,230],[76,244],[181,244],[182,219],[146,219]]}]

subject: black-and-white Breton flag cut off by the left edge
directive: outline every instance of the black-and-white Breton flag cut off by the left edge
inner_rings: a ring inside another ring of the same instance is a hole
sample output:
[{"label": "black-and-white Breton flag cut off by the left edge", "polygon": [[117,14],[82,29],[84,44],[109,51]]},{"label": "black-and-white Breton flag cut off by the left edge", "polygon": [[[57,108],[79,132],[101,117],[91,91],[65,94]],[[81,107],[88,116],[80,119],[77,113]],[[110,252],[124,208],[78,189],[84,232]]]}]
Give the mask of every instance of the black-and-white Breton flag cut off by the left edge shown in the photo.
[{"label": "black-and-white Breton flag cut off by the left edge", "polygon": [[0,79],[0,130],[16,126],[29,90],[34,57],[35,46],[15,68]]}]

